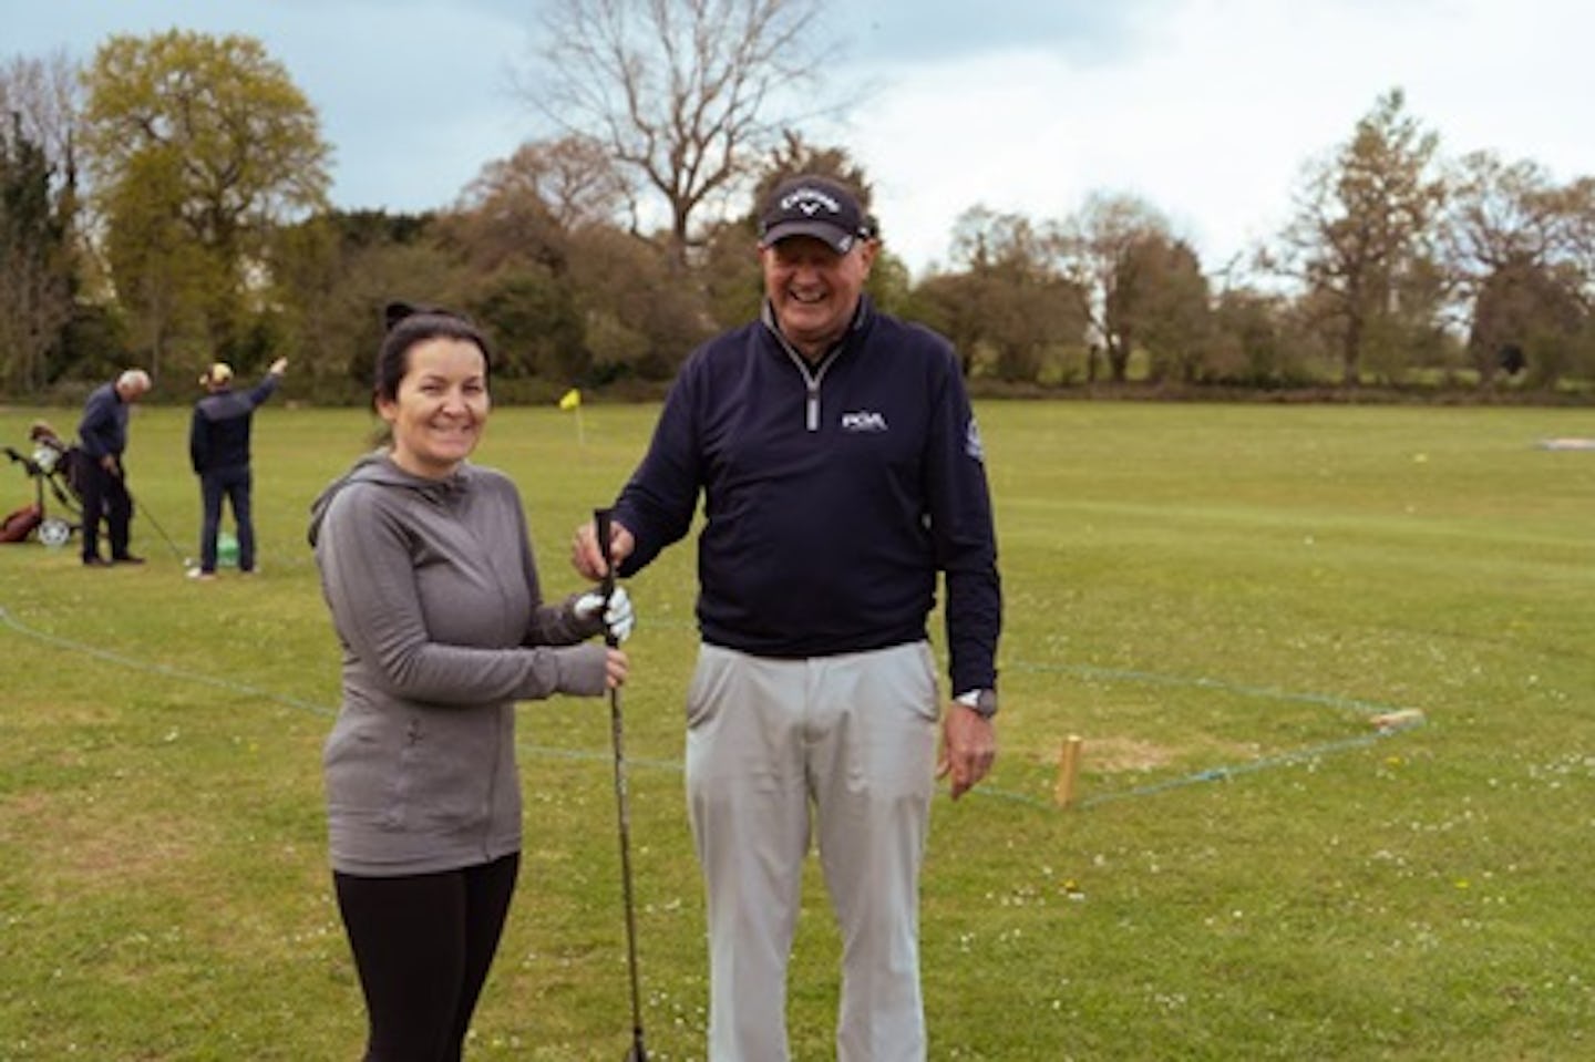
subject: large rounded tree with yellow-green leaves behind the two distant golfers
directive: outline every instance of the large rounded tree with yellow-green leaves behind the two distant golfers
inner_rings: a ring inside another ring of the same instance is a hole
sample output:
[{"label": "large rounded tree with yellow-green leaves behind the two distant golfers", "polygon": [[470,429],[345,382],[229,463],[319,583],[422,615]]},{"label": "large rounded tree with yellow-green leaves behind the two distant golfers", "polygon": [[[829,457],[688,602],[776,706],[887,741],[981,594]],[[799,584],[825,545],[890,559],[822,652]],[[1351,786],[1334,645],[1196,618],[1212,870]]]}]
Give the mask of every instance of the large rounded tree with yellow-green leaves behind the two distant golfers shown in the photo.
[{"label": "large rounded tree with yellow-green leaves behind the two distant golfers", "polygon": [[112,277],[150,344],[226,357],[260,309],[273,230],[325,206],[316,110],[247,37],[116,35],[85,78],[83,153]]}]

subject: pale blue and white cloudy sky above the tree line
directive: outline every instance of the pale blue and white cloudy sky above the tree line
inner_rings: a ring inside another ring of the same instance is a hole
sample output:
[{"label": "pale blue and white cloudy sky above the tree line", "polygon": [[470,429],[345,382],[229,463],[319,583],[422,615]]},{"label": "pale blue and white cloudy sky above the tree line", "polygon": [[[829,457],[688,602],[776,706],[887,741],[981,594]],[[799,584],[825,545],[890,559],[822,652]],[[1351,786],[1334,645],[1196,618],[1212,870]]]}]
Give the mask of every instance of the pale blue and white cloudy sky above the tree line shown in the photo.
[{"label": "pale blue and white cloudy sky above the tree line", "polygon": [[[842,144],[887,244],[946,263],[981,204],[1034,220],[1093,190],[1163,210],[1209,269],[1279,231],[1303,163],[1389,88],[1456,156],[1595,174],[1595,5],[1577,0],[831,0]],[[448,206],[544,129],[510,88],[538,0],[0,0],[0,59],[171,27],[257,37],[321,115],[333,201]],[[828,70],[829,75],[829,70]]]}]

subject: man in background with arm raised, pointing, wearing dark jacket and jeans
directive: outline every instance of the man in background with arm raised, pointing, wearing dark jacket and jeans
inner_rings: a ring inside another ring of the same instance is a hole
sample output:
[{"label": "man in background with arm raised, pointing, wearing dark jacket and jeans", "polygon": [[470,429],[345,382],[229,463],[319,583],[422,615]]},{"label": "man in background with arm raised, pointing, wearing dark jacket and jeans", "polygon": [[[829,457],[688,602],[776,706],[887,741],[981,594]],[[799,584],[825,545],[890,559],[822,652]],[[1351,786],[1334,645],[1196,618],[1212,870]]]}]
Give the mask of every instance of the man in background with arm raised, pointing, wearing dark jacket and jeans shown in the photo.
[{"label": "man in background with arm raised, pointing, wearing dark jacket and jeans", "polygon": [[188,426],[188,459],[199,477],[204,510],[199,525],[199,579],[215,579],[215,539],[222,528],[222,499],[233,509],[238,528],[238,569],[255,571],[255,521],[250,517],[252,474],[249,429],[255,407],[271,397],[289,367],[289,359],[271,362],[265,380],[239,394],[233,391],[233,368],[215,362],[199,376],[206,397],[195,402]]}]

